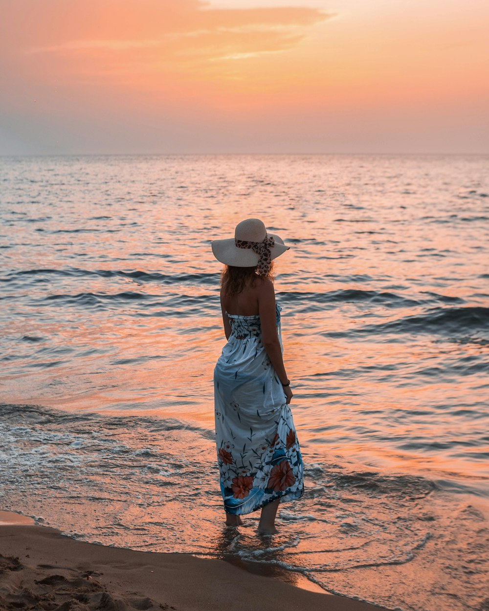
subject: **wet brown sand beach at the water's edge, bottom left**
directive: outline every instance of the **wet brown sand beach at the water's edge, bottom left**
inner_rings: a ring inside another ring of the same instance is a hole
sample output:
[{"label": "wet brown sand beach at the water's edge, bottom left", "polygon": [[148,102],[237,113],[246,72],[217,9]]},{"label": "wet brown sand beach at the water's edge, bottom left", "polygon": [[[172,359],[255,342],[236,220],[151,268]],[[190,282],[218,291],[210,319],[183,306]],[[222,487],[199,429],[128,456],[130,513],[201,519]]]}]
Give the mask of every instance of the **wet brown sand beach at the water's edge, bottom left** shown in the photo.
[{"label": "wet brown sand beach at the water's edge, bottom left", "polygon": [[386,611],[309,583],[306,589],[307,584],[292,585],[216,558],[85,543],[27,516],[0,511],[2,611],[20,604],[45,611],[225,606],[233,611]]}]

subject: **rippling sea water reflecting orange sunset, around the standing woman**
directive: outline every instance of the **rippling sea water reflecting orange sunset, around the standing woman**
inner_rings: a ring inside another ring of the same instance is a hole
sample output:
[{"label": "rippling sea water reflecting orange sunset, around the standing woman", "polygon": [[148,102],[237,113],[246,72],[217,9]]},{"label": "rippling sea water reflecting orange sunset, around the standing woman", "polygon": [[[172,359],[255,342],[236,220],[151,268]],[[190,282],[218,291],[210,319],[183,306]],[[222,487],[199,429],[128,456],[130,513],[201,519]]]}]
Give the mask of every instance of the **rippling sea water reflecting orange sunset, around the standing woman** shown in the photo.
[{"label": "rippling sea water reflecting orange sunset, around the standing woman", "polygon": [[[210,241],[276,261],[306,494],[223,525]],[[402,611],[489,606],[489,156],[0,160],[0,508]]]}]

